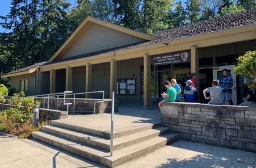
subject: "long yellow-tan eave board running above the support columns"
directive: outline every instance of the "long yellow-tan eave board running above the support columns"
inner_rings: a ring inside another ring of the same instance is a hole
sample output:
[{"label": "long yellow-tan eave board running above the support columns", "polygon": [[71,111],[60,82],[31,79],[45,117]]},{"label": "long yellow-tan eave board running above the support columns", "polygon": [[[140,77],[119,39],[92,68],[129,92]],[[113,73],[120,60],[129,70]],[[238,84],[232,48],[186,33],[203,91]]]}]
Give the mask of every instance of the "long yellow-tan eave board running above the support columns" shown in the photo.
[{"label": "long yellow-tan eave board running above the support columns", "polygon": [[252,34],[256,34],[255,25],[248,25],[245,27],[226,29],[223,31],[212,32],[209,34],[196,35],[194,37],[175,39],[169,41],[169,45],[163,45],[162,43],[158,43],[145,47],[118,51],[116,52],[116,55],[111,55],[107,53],[71,61],[58,62],[50,65],[43,65],[42,67],[40,67],[40,71],[50,71],[52,68],[54,70],[58,70],[65,68],[68,65],[70,67],[79,67],[87,64],[87,62],[90,62],[90,64],[100,64],[103,62],[110,62],[113,59],[115,61],[120,61],[132,58],[139,58],[143,57],[145,52],[148,52],[149,55],[156,55],[180,50],[190,50],[191,46],[193,45],[197,45],[197,48],[200,48],[210,47],[213,45],[228,44],[232,42],[248,41],[251,39],[255,39],[255,36],[253,36]]}]

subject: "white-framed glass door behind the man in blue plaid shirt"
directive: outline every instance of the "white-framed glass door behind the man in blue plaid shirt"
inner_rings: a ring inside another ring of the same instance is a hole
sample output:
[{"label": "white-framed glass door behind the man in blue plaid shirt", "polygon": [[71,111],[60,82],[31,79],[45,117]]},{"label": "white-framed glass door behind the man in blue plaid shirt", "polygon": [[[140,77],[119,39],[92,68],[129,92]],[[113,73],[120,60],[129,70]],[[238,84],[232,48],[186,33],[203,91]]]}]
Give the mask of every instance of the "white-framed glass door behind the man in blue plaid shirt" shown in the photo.
[{"label": "white-framed glass door behind the man in blue plaid shirt", "polygon": [[213,80],[218,80],[219,76],[223,74],[223,69],[228,70],[228,75],[231,75],[233,78],[233,87],[232,87],[232,101],[233,105],[237,105],[237,94],[236,94],[236,74],[233,72],[233,67],[235,65],[227,65],[222,67],[214,67],[213,68]]}]

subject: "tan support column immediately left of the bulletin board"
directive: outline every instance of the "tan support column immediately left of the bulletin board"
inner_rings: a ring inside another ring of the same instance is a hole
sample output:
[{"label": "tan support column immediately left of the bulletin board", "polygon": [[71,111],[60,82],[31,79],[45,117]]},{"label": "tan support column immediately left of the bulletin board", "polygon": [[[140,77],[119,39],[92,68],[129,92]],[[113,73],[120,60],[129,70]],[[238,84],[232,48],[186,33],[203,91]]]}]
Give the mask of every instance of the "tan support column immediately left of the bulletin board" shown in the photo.
[{"label": "tan support column immediately left of the bulletin board", "polygon": [[110,98],[112,98],[112,93],[114,91],[114,97],[117,97],[116,94],[117,88],[117,61],[114,59],[110,61]]}]

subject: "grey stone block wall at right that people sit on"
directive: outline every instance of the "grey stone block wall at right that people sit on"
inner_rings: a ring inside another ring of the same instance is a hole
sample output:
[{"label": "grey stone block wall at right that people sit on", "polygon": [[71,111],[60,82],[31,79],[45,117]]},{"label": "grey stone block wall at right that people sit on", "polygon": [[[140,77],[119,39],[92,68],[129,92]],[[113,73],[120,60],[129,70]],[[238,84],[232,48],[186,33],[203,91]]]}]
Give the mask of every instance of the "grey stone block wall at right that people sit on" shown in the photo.
[{"label": "grey stone block wall at right that people sit on", "polygon": [[184,140],[256,152],[256,107],[163,103],[161,121]]}]

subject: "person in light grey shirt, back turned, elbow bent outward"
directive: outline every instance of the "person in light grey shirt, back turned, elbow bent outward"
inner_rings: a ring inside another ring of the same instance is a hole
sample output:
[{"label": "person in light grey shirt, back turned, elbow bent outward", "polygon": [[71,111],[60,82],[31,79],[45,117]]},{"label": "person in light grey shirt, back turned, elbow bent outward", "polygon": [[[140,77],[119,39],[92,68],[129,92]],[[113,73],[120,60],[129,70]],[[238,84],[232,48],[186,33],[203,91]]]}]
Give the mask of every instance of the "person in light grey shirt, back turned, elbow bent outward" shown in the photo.
[{"label": "person in light grey shirt, back turned, elbow bent outward", "polygon": [[[203,90],[204,98],[210,100],[210,104],[222,104],[222,88],[219,87],[219,81],[213,80],[212,85],[213,87],[209,87]],[[210,93],[210,97],[206,97],[206,93]]]}]

